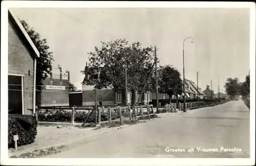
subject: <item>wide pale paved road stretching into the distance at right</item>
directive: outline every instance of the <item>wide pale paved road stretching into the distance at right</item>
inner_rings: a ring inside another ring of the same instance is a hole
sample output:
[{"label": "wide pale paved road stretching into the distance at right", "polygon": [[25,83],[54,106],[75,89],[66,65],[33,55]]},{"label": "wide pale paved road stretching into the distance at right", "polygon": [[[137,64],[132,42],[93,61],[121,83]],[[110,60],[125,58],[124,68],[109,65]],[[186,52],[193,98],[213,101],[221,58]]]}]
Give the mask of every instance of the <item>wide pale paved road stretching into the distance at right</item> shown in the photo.
[{"label": "wide pale paved road stretching into the distance at right", "polygon": [[[160,116],[92,137],[73,149],[45,157],[250,157],[249,109],[243,101]],[[176,152],[166,152],[167,147]],[[237,151],[224,152],[221,147]],[[188,152],[190,148],[194,152]],[[218,152],[198,151],[198,148],[217,148]],[[177,152],[179,149],[185,152]]]}]

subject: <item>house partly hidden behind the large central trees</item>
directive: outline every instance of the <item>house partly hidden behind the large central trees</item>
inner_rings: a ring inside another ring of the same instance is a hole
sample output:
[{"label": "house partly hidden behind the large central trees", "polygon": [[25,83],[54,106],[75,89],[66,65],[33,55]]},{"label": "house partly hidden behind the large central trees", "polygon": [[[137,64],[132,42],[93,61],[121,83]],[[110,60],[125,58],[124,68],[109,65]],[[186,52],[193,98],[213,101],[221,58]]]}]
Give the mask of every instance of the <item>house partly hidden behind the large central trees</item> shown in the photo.
[{"label": "house partly hidden behind the large central trees", "polygon": [[[82,81],[82,105],[95,105],[95,91],[94,85],[88,85],[88,80],[93,81],[97,80],[102,76],[100,73],[100,68],[92,68],[86,65],[86,76]],[[117,104],[125,105],[125,95],[127,96],[127,103],[132,103],[132,92],[129,91],[125,94],[125,89],[119,89],[117,93]],[[140,93],[135,92],[135,102],[137,102]],[[97,89],[97,101],[98,105],[114,105],[115,103],[115,93],[114,90],[110,87]],[[151,92],[146,91],[141,96],[141,104],[146,104],[151,101]]]}]

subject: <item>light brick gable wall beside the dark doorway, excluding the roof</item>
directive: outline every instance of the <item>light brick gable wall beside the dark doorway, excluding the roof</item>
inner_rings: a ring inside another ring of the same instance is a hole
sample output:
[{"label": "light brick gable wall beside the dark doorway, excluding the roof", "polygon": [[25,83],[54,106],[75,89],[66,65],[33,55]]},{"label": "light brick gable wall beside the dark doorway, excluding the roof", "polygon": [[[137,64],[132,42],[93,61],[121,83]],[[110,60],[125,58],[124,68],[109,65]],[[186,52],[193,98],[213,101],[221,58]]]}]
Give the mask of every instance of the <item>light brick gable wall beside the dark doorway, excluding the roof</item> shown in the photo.
[{"label": "light brick gable wall beside the dark doorway, excluding the roof", "polygon": [[33,113],[34,60],[11,22],[8,24],[8,74],[24,77],[24,114]]}]

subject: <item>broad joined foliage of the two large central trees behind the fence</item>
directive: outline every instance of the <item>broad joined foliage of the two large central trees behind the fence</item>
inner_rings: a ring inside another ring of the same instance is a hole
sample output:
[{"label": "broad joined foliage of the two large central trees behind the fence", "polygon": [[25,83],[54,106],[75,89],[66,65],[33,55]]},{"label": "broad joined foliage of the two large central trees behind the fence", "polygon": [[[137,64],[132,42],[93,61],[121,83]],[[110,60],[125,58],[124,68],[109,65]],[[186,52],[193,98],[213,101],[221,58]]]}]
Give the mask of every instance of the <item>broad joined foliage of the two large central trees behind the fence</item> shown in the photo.
[{"label": "broad joined foliage of the two large central trees behind the fence", "polygon": [[[88,85],[95,85],[97,89],[110,87],[115,91],[125,88],[125,65],[127,71],[127,87],[137,90],[143,86],[147,72],[153,64],[154,50],[152,47],[142,48],[141,43],[129,42],[125,39],[116,39],[110,42],[101,42],[101,48],[95,46],[95,51],[89,54],[89,68],[81,72],[91,75],[99,72],[98,79],[86,79]],[[96,71],[97,70],[97,71]],[[150,86],[148,85],[147,88]]]}]

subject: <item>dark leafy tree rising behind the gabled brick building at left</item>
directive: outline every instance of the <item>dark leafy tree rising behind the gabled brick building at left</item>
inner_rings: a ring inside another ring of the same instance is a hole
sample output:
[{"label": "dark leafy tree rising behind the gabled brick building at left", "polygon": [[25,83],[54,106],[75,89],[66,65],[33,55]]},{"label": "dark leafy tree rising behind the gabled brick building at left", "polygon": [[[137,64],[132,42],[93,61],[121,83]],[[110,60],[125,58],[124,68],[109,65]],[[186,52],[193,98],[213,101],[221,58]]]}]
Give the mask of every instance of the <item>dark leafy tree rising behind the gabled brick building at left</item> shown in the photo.
[{"label": "dark leafy tree rising behind the gabled brick building at left", "polygon": [[51,65],[52,61],[54,61],[53,53],[49,51],[46,39],[41,39],[40,34],[35,32],[33,28],[30,28],[25,20],[20,22],[40,53],[40,57],[36,60],[36,89],[40,90],[40,85],[43,85],[44,80],[51,73]]}]

